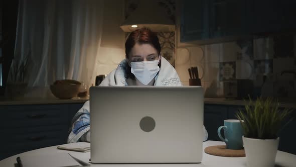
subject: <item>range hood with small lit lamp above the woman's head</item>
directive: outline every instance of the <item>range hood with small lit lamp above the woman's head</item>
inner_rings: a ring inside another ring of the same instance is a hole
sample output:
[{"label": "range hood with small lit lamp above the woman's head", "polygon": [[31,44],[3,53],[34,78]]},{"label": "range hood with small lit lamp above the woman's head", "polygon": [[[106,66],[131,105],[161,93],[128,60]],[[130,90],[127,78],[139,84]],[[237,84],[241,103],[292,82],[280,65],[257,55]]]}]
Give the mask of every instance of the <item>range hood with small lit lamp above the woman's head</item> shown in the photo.
[{"label": "range hood with small lit lamp above the woman's head", "polygon": [[120,26],[124,32],[132,32],[142,27],[150,28],[153,32],[175,31],[175,23],[155,0],[139,1],[137,9]]}]

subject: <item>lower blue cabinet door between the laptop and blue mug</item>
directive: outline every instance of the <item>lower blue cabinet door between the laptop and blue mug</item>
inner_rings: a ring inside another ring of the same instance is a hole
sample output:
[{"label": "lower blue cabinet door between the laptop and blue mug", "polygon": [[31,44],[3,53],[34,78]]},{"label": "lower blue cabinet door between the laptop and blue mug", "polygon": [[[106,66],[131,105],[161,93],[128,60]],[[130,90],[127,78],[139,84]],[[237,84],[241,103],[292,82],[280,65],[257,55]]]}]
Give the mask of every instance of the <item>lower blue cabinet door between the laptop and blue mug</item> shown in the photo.
[{"label": "lower blue cabinet door between the laptop and blue mug", "polygon": [[204,125],[209,133],[208,140],[221,141],[217,130],[227,119],[227,107],[223,105],[204,106]]}]

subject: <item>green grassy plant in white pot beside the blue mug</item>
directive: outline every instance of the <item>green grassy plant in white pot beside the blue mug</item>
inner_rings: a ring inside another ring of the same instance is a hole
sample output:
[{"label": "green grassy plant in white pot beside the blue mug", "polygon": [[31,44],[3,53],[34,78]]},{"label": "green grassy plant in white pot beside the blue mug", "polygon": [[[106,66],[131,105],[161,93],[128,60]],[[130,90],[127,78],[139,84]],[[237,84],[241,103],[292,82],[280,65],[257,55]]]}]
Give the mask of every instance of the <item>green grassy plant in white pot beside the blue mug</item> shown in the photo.
[{"label": "green grassy plant in white pot beside the blue mug", "polygon": [[250,99],[244,110],[236,113],[236,117],[243,128],[247,166],[274,166],[279,142],[277,134],[290,110],[280,110],[279,103],[270,97]]}]

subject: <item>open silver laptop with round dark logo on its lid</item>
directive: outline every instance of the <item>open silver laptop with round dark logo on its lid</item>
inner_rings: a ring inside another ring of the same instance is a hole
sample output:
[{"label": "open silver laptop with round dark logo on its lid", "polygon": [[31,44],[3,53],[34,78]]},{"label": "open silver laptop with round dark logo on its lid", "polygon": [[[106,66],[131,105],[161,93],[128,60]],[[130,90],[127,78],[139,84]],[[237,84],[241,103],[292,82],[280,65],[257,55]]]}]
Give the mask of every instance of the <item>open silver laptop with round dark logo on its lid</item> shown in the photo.
[{"label": "open silver laptop with round dark logo on its lid", "polygon": [[200,163],[204,94],[190,87],[91,87],[92,163]]}]

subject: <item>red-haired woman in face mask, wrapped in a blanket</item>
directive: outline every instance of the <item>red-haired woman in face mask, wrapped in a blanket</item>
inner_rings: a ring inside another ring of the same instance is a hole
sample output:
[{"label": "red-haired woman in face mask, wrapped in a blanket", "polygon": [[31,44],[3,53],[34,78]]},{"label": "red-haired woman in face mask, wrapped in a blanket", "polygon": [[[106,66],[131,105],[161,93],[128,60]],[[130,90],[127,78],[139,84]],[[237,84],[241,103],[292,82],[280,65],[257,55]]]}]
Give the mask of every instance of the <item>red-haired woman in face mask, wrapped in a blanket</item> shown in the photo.
[{"label": "red-haired woman in face mask, wrapped in a blanket", "polygon": [[[182,86],[175,68],[161,56],[161,45],[155,33],[147,28],[130,33],[125,42],[125,59],[99,86]],[[88,141],[89,101],[72,120],[68,142]],[[208,133],[205,131],[205,140]]]}]

